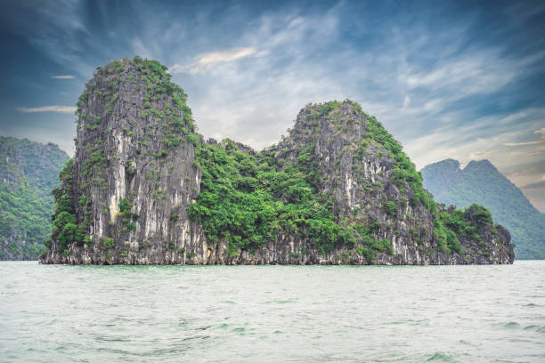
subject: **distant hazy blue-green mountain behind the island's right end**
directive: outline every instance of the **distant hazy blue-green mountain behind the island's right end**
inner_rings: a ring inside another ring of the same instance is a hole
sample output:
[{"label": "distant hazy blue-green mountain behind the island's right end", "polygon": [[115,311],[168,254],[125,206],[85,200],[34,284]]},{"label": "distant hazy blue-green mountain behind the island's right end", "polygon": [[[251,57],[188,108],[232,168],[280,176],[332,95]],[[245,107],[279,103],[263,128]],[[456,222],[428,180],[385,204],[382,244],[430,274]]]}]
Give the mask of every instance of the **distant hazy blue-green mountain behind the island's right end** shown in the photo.
[{"label": "distant hazy blue-green mountain behind the island's right end", "polygon": [[471,161],[464,169],[446,159],[421,171],[424,188],[435,200],[458,207],[477,203],[511,232],[517,259],[545,259],[545,214],[488,160]]}]

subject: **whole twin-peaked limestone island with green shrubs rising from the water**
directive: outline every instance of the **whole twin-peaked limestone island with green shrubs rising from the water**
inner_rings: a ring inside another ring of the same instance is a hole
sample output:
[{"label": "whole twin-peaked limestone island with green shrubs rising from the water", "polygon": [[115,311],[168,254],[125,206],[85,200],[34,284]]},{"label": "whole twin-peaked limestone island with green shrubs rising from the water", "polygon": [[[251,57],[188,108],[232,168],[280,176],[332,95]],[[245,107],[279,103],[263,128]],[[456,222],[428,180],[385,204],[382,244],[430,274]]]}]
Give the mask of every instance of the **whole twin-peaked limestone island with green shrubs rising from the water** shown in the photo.
[{"label": "whole twin-peaked limestone island with green shrubs rising from the water", "polygon": [[256,152],[194,133],[151,60],[99,69],[78,103],[45,263],[513,261],[480,206],[437,205],[401,146],[352,101],[301,110]]}]

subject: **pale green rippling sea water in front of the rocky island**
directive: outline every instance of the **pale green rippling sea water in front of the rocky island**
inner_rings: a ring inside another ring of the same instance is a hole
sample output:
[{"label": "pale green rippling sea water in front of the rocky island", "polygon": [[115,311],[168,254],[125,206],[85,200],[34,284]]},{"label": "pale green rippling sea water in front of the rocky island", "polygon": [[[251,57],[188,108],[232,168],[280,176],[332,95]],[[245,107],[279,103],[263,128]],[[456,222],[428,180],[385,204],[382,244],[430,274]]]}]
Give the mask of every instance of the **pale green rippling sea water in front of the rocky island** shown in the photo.
[{"label": "pale green rippling sea water in front of the rocky island", "polygon": [[545,261],[0,262],[0,361],[544,362]]}]

